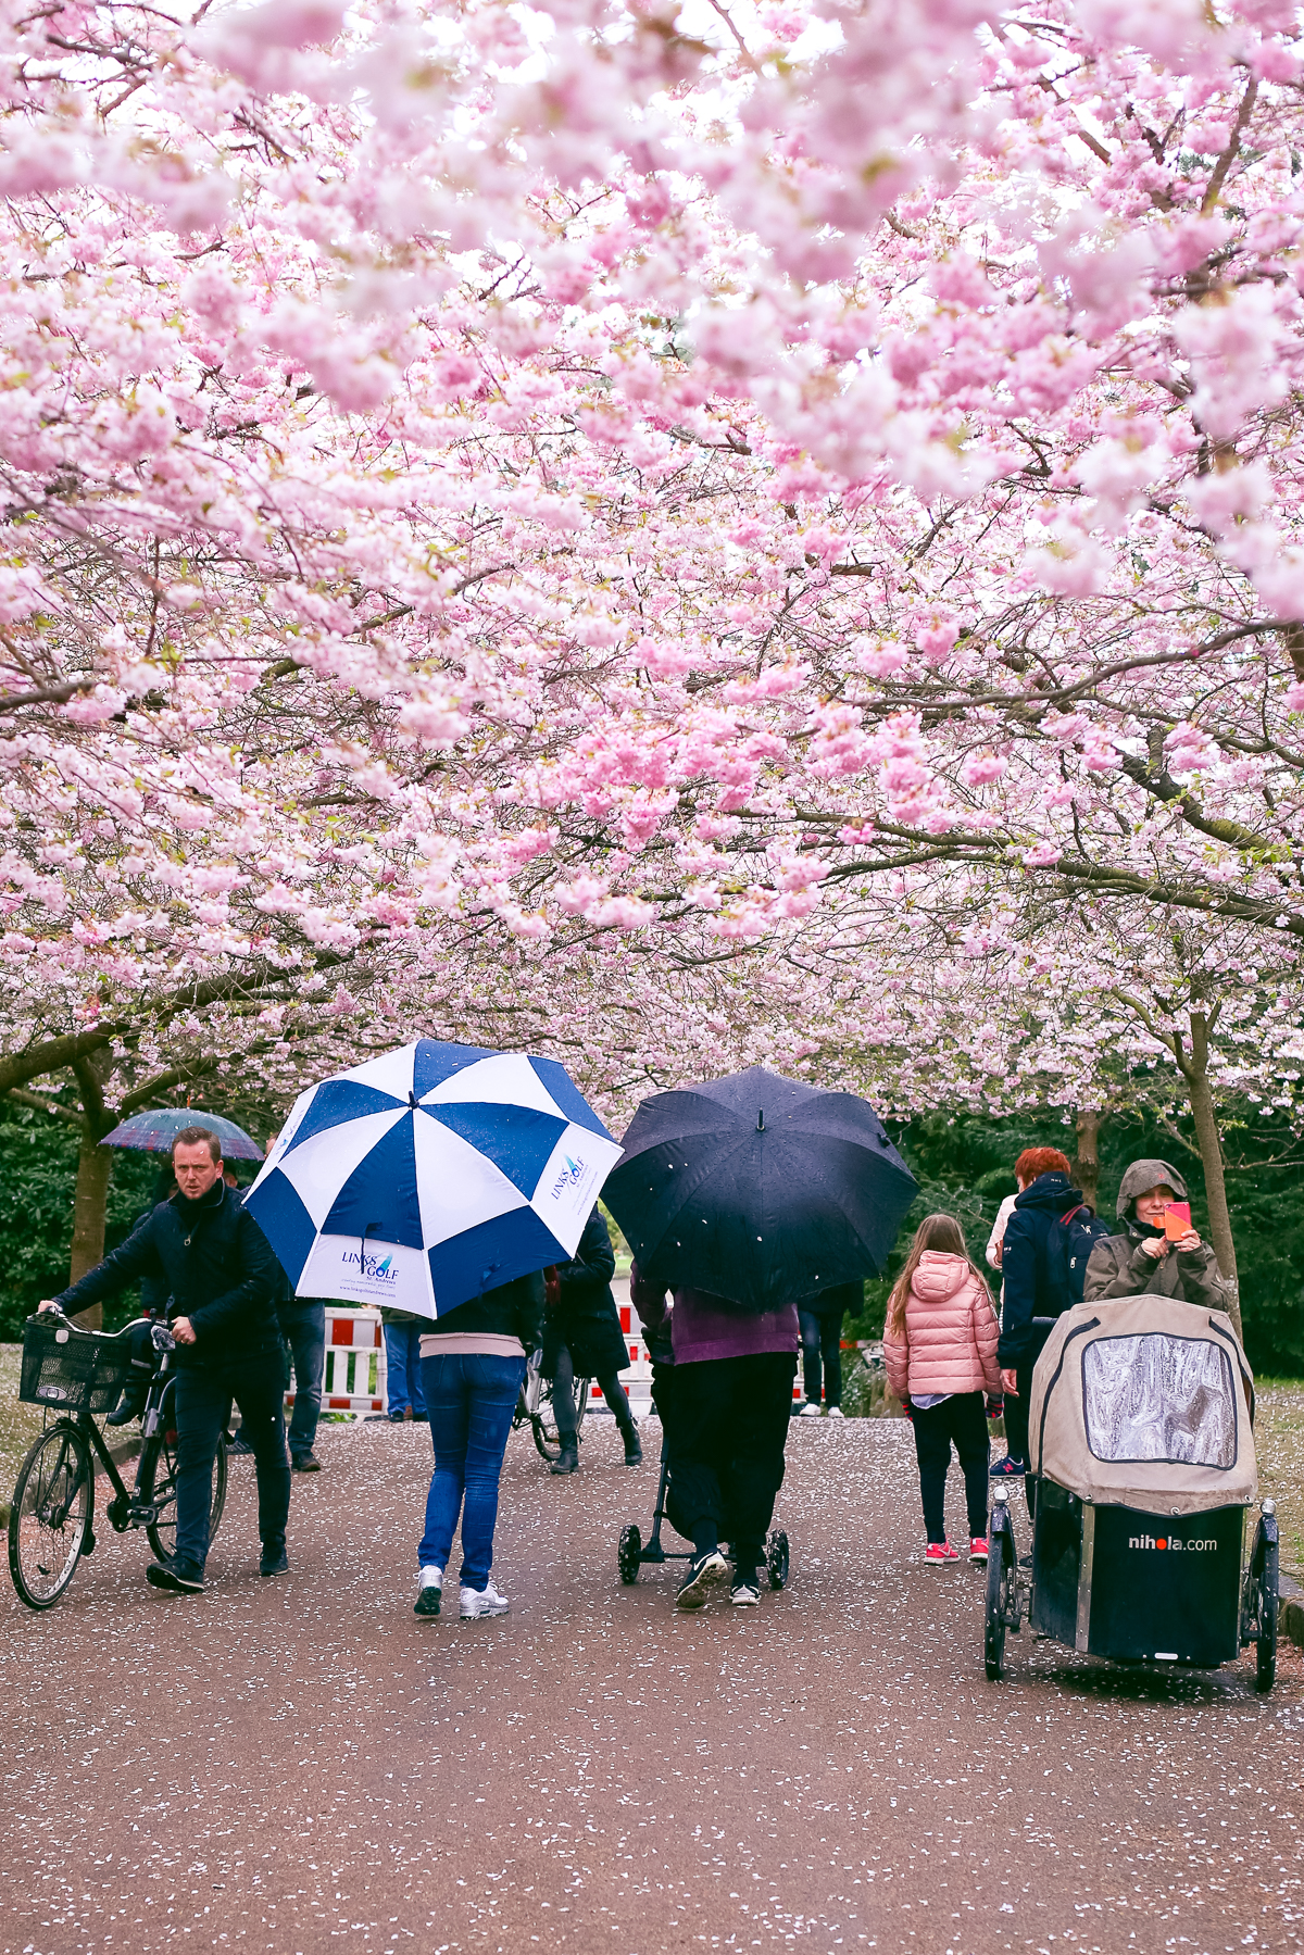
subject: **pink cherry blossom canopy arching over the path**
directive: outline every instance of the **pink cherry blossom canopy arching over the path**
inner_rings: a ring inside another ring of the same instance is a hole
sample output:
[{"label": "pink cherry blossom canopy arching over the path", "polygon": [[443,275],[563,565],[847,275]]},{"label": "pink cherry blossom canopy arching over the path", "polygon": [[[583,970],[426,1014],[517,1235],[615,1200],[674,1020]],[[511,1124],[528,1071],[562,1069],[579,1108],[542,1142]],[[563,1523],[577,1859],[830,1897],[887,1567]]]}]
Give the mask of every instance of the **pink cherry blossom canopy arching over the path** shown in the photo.
[{"label": "pink cherry blossom canopy arching over the path", "polygon": [[98,1140],[422,1022],[620,1105],[882,1060],[927,964],[893,1105],[1091,1105],[1177,1019],[1077,913],[1290,970],[1288,10],[6,43],[0,1087],[82,1067]]}]

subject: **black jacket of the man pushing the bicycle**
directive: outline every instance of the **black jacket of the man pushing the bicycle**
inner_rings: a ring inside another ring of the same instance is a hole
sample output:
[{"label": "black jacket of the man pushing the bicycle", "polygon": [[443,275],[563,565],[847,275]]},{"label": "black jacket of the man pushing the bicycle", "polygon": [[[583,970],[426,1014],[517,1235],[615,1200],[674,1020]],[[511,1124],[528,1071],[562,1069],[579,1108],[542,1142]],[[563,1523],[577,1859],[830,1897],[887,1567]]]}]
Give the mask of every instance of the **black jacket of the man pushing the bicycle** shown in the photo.
[{"label": "black jacket of the man pushing the bicycle", "polygon": [[174,1195],[55,1298],[65,1316],[117,1296],[143,1277],[160,1279],[172,1298],[170,1318],[190,1318],[196,1343],[178,1345],[178,1365],[254,1357],[276,1349],[274,1298],[280,1263],[233,1191],[217,1181],[197,1202]]}]

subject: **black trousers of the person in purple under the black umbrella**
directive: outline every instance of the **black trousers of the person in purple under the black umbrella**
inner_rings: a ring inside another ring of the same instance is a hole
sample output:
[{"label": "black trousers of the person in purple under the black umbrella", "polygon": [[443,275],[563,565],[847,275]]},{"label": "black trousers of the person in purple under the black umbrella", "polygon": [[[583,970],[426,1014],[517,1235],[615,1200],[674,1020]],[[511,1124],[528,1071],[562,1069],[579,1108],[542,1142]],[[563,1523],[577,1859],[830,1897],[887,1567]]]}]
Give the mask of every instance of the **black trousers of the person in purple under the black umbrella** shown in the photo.
[{"label": "black trousers of the person in purple under the black umbrella", "polygon": [[725,1533],[741,1570],[761,1566],[784,1484],[796,1368],[794,1351],[674,1367],[674,1507],[694,1546]]}]

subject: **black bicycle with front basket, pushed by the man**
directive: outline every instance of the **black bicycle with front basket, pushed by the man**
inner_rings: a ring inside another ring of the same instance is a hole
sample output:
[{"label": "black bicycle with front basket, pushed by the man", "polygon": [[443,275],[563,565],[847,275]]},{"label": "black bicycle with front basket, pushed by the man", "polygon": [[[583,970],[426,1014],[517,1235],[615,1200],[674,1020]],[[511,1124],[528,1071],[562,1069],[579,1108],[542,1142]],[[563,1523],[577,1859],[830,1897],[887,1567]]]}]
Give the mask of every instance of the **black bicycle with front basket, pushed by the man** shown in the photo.
[{"label": "black bicycle with front basket, pushed by the man", "polygon": [[[113,1488],[106,1517],[115,1535],[143,1527],[166,1562],[176,1550],[176,1341],[166,1324],[151,1325],[158,1363],[141,1415],[141,1455],[129,1488],[96,1425],[111,1412],[131,1376],[131,1331],[84,1331],[63,1314],[41,1312],[23,1329],[18,1396],[41,1406],[45,1431],[18,1470],[10,1507],[10,1574],[29,1609],[49,1609],[65,1593],[82,1554],[96,1550],[96,1472]],[[98,1466],[96,1466],[98,1462]],[[227,1503],[227,1443],[217,1441],[209,1541]]]}]

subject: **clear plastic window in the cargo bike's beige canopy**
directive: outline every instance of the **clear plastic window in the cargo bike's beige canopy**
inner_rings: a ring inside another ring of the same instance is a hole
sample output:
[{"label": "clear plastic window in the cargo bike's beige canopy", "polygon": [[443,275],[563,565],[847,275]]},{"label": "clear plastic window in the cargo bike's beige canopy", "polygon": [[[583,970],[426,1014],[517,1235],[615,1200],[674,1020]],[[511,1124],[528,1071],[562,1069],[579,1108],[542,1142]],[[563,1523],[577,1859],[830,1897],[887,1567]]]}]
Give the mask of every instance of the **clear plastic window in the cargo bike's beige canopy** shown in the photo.
[{"label": "clear plastic window in the cargo bike's beige canopy", "polygon": [[1099,1460],[1236,1466],[1236,1374],[1198,1337],[1101,1337],[1083,1353],[1087,1445]]}]

